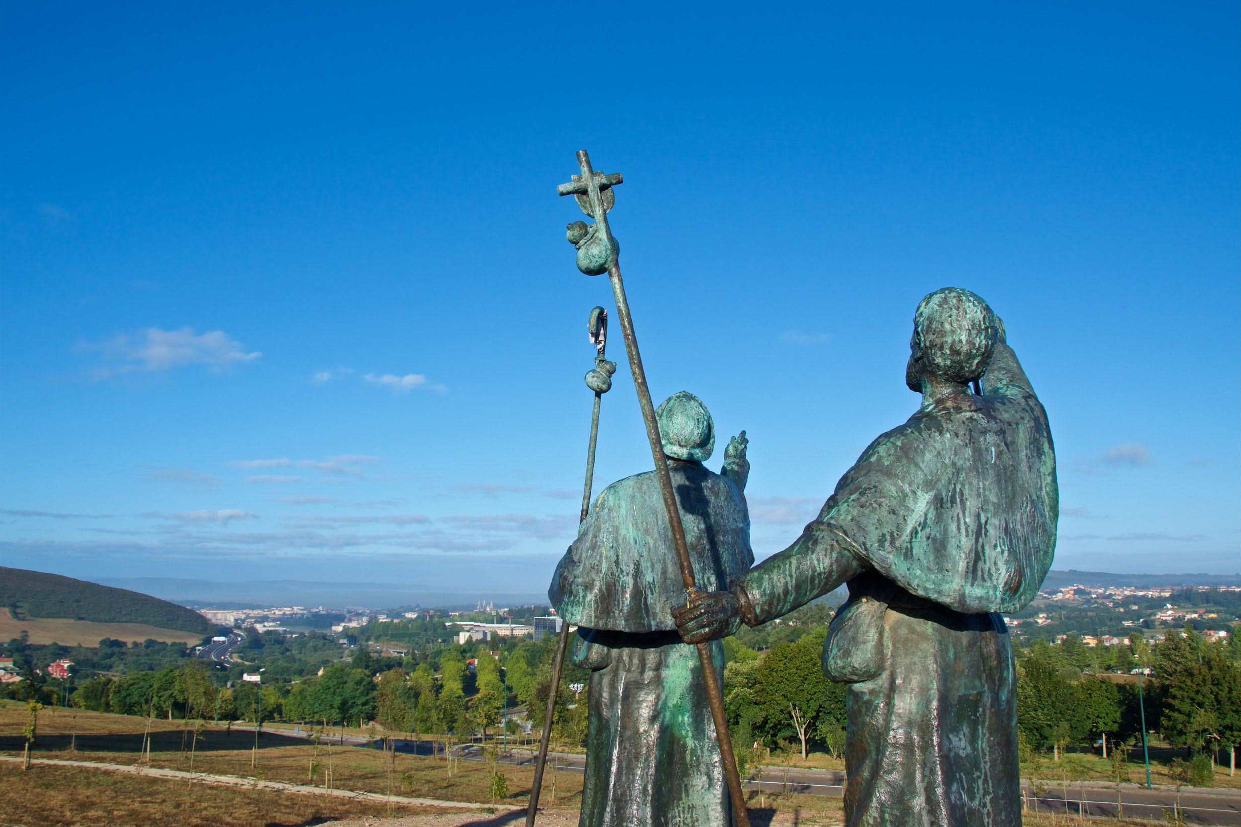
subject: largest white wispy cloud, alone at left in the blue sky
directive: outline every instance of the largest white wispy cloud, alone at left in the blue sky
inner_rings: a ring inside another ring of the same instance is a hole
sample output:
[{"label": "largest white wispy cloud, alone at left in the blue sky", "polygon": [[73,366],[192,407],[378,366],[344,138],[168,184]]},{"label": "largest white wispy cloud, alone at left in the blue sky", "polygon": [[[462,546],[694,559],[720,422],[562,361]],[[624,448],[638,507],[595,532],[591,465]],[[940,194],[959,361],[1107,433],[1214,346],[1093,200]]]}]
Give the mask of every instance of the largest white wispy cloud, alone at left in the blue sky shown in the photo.
[{"label": "largest white wispy cloud, alone at left in the blue sky", "polygon": [[99,345],[87,345],[84,348],[101,351],[108,362],[92,371],[94,378],[107,378],[132,371],[168,371],[186,365],[206,365],[213,371],[223,371],[261,356],[258,351],[246,352],[241,342],[221,330],[195,334],[191,327],[177,330],[148,327],[137,335],[117,336]]}]

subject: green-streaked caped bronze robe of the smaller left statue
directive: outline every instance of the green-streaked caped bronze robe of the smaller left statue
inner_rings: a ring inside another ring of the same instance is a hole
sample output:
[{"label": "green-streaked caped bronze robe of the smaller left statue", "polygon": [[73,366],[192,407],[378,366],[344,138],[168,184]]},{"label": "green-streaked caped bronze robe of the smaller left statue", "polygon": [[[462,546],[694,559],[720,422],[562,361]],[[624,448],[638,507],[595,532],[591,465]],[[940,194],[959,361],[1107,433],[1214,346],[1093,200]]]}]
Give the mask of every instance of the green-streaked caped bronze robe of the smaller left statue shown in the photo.
[{"label": "green-streaked caped bronze robe of the smaller left statue", "polygon": [[[669,471],[697,588],[727,589],[753,563],[745,497],[699,462]],[[592,670],[581,826],[732,823],[702,667],[673,622],[685,589],[655,472],[599,495],[547,594],[578,625],[573,662]]]}]

